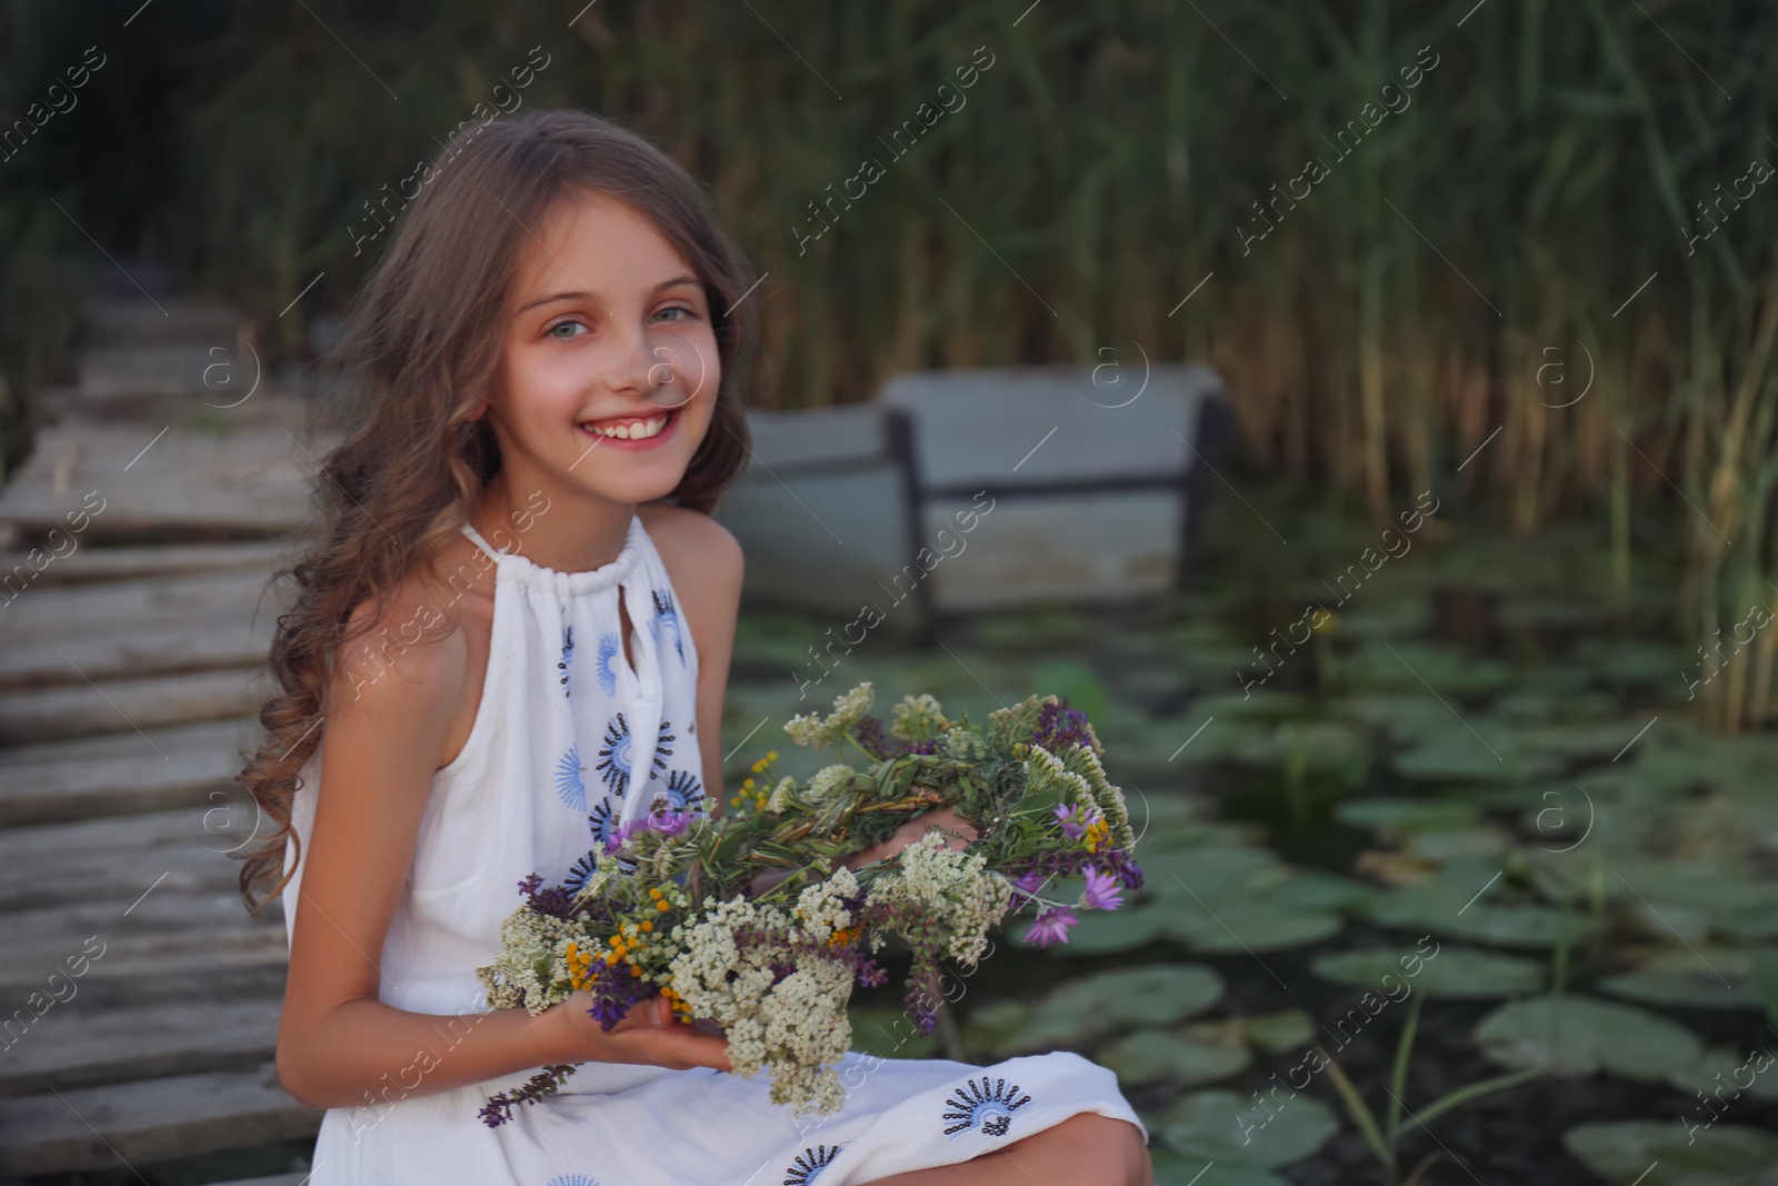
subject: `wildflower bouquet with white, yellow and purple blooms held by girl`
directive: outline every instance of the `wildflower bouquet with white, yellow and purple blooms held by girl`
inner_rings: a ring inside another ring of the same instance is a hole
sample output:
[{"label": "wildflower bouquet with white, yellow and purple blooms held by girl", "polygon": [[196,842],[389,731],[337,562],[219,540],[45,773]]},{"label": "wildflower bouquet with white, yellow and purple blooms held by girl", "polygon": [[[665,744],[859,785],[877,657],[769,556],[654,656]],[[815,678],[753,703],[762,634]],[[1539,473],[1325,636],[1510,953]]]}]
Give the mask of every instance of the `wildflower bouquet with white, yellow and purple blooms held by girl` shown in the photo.
[{"label": "wildflower bouquet with white, yellow and purple blooms held by girl", "polygon": [[[834,1113],[852,985],[887,980],[866,948],[877,953],[891,935],[909,946],[910,1014],[930,1033],[935,1003],[923,985],[941,958],[974,966],[989,930],[1026,907],[1037,909],[1026,941],[1065,942],[1076,909],[1113,910],[1120,887],[1141,887],[1124,795],[1106,779],[1085,713],[1033,695],[980,729],[910,695],[885,731],[868,715],[871,695],[859,685],[830,715],[784,725],[798,745],[848,743],[868,766],[829,765],[770,793],[749,779],[731,814],[711,818],[708,797],[658,809],[587,853],[565,884],[521,882],[525,903],[503,926],[500,958],[477,971],[489,1005],[541,1014],[585,989],[610,1031],[665,996],[681,1022],[727,1038],[736,1074],[770,1067],[772,1102]],[[951,850],[933,829],[885,861],[841,864],[935,807],[965,818],[976,839]],[[1085,891],[1074,902],[1040,894],[1076,873]],[[503,1124],[571,1070],[546,1067],[493,1097],[482,1120]]]}]

